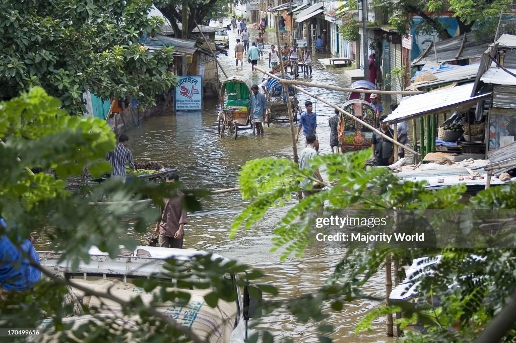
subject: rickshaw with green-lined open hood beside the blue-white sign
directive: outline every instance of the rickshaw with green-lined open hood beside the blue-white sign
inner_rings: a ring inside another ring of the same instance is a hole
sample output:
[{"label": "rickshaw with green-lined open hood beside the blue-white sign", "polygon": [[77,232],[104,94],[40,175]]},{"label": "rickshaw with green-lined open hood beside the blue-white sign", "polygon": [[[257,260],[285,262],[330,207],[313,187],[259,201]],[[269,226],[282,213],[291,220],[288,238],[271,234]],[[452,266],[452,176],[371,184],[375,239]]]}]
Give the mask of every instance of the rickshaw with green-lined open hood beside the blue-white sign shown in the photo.
[{"label": "rickshaw with green-lined open hood beside the blue-white sign", "polygon": [[[224,101],[225,93],[227,100]],[[238,130],[252,129],[251,84],[244,76],[231,76],[220,88],[219,135],[236,139]],[[249,125],[249,126],[247,126]]]}]

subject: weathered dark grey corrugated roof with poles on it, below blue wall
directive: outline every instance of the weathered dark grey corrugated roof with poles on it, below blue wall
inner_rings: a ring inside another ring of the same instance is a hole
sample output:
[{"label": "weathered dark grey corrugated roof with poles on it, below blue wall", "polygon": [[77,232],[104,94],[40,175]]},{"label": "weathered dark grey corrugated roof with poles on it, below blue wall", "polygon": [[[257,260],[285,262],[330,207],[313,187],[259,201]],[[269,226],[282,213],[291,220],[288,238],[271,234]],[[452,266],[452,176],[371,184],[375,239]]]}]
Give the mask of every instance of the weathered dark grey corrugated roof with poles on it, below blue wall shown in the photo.
[{"label": "weathered dark grey corrugated roof with poles on it, below blue wall", "polygon": [[[466,41],[464,42],[464,46],[462,50],[460,50],[462,45],[462,40],[464,39],[464,35],[460,35],[457,37],[452,37],[449,39],[445,39],[435,43],[435,50],[433,48],[433,42],[430,45],[430,48],[427,51],[423,52],[420,56],[418,56],[414,61],[412,61],[413,66],[423,66],[427,62],[449,62],[455,61],[459,59],[468,59],[468,58],[476,58],[481,57],[483,53],[489,47],[489,44],[493,42],[492,37],[487,37],[480,41],[477,41],[473,36],[473,32],[469,32],[466,35]],[[460,51],[460,55],[458,58],[457,53]],[[437,59],[436,59],[437,52]]]}]

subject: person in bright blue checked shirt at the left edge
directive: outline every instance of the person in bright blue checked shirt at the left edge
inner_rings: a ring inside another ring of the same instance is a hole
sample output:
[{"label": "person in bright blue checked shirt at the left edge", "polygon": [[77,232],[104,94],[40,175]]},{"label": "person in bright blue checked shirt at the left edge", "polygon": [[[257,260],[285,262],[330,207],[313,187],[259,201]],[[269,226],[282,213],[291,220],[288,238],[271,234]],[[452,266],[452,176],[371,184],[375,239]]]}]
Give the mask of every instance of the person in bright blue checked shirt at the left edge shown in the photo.
[{"label": "person in bright blue checked shirt at the left edge", "polygon": [[[4,218],[0,225],[6,227]],[[39,256],[32,242],[25,239],[20,244],[21,250],[39,265]],[[41,272],[30,265],[7,236],[0,236],[0,290],[24,291],[31,289],[41,279]]]}]

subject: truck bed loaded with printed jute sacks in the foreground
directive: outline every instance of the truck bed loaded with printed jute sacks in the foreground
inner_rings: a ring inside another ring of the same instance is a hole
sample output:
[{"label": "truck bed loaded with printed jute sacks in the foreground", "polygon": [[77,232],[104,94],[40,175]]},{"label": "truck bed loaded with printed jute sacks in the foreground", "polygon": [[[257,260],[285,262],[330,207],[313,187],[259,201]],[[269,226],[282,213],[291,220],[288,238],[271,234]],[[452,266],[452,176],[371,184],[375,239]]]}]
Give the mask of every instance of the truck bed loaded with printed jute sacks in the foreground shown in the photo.
[{"label": "truck bed loaded with printed jute sacks in the foreground", "polygon": [[[167,272],[167,259],[175,258],[176,260],[188,261],[198,256],[208,255],[207,252],[195,249],[147,246],[138,246],[134,250],[120,247],[119,256],[115,258],[110,258],[107,253],[102,252],[97,247],[91,247],[88,253],[89,261],[82,260],[78,266],[72,269],[72,261],[63,258],[61,253],[38,251],[42,267],[66,277],[83,288],[96,291],[109,290],[112,294],[126,301],[140,297],[141,301],[146,304],[151,303],[155,293],[149,293],[144,291],[143,288],[137,287],[132,283],[134,280],[156,278],[169,281],[170,271],[165,274]],[[230,262],[228,258],[217,254],[211,254],[211,259],[217,260],[221,265]],[[168,275],[168,277],[165,275]],[[256,306],[261,299],[252,298],[249,295],[249,288],[253,286],[248,284],[244,287],[244,295],[241,294],[237,285],[237,274],[231,273],[227,277],[228,280],[231,280],[236,295],[236,300],[233,302],[219,299],[217,306],[212,308],[206,304],[204,299],[205,295],[212,292],[211,289],[180,288],[175,283],[178,291],[189,293],[188,304],[179,306],[176,303],[167,302],[154,308],[176,322],[187,326],[193,333],[207,342],[244,343],[248,334],[248,320],[253,317]],[[172,279],[171,281],[171,285],[173,285],[176,280]],[[100,300],[76,288],[72,288],[72,291],[78,299],[82,299],[83,306],[99,308],[101,319],[118,321],[129,331],[141,330],[137,325],[139,317],[123,315],[118,302],[109,299]],[[158,288],[156,288],[153,292],[158,291]],[[252,293],[256,294],[255,291]],[[98,316],[95,315],[95,317]],[[64,322],[73,322],[73,325],[88,320],[99,321],[99,318],[82,315],[63,319]],[[99,321],[99,323],[101,322],[102,320]],[[45,335],[52,336],[52,328],[52,320],[47,319],[40,325],[39,329]]]}]

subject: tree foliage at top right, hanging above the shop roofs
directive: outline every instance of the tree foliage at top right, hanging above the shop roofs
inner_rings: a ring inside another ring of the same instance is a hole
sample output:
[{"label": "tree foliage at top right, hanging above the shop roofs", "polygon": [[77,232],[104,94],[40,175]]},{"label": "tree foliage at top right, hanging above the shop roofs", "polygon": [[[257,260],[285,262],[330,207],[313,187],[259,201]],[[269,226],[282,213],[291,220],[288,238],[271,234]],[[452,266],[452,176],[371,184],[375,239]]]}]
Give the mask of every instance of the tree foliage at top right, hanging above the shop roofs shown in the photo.
[{"label": "tree foliage at top right, hanging above the shop roofs", "polygon": [[[457,19],[460,33],[470,32],[476,27],[478,37],[482,35],[494,35],[501,10],[507,9],[509,0],[442,0],[430,1],[383,1],[373,0],[373,5],[389,13],[389,22],[396,27],[401,34],[409,31],[411,17],[416,14],[423,18],[423,23],[418,29],[422,31],[436,30],[441,39],[449,38],[447,27],[439,22],[439,17],[453,13]],[[448,6],[449,5],[449,6]]]}]

